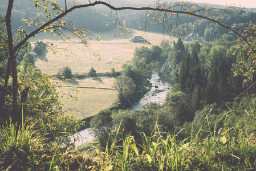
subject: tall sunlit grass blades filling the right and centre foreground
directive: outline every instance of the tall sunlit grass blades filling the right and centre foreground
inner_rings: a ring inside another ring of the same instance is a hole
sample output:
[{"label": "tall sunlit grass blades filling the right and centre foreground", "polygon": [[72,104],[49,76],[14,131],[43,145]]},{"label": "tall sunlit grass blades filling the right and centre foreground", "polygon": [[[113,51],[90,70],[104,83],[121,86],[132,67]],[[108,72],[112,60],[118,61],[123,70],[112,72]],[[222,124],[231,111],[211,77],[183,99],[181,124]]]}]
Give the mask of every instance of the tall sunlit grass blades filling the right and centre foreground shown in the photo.
[{"label": "tall sunlit grass blades filling the right and centre foreground", "polygon": [[[225,113],[216,121],[214,130],[210,129],[210,112],[206,113],[202,123],[207,124],[209,130],[203,130],[201,126],[194,133],[192,127],[191,135],[184,140],[179,138],[180,132],[172,135],[161,132],[161,125],[157,122],[151,137],[140,133],[143,144],[137,144],[131,134],[117,137],[116,133],[110,149],[105,152],[97,150],[101,158],[98,169],[256,170],[255,107],[251,115],[245,111],[243,119],[239,119],[233,111]],[[227,126],[229,117],[235,120],[234,127]],[[216,130],[220,121],[224,124]],[[200,132],[208,132],[208,136],[201,139]],[[116,145],[117,139],[122,141],[122,145]]]}]

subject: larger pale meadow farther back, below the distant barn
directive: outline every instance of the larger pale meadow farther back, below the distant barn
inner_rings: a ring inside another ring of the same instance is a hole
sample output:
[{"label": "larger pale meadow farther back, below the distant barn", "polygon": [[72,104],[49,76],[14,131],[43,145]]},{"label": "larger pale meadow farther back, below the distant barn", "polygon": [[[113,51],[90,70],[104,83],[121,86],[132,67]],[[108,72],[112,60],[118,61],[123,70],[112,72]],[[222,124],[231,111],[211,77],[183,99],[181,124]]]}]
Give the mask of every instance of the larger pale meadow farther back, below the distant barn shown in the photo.
[{"label": "larger pale meadow farther back, below the distant barn", "polygon": [[[111,68],[116,71],[121,70],[123,63],[133,58],[133,52],[136,47],[150,45],[143,43],[132,43],[129,40],[135,35],[143,35],[143,32],[132,30],[131,34],[119,35],[119,31],[113,29],[106,32],[99,32],[101,40],[90,41],[90,50],[84,47],[82,43],[67,44],[60,42],[56,38],[45,38],[39,35],[36,39],[43,42],[53,43],[56,48],[56,55],[48,50],[46,56],[39,56],[35,62],[35,66],[48,74],[56,74],[60,68],[69,66],[72,72],[89,72],[94,67],[97,72],[110,72]],[[157,33],[147,33],[148,40],[153,45],[159,45],[162,39],[170,39],[168,36]],[[46,36],[47,37],[47,36]],[[173,42],[174,39],[170,39]],[[94,53],[100,55],[99,58]]]}]

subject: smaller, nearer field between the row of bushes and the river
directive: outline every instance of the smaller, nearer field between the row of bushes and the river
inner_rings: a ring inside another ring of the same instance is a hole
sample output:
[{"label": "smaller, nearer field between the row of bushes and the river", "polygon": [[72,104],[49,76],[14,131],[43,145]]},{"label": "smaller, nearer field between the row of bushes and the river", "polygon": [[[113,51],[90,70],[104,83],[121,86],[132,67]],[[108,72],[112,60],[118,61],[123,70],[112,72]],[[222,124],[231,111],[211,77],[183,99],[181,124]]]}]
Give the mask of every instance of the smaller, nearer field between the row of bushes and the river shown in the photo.
[{"label": "smaller, nearer field between the row of bushes and the river", "polygon": [[[78,101],[67,99],[62,100],[63,111],[74,113],[79,119],[95,115],[101,109],[108,108],[116,99],[117,92],[112,88],[114,78],[72,80],[63,85],[64,92],[71,92],[75,87],[80,91]],[[86,90],[86,92],[83,91]]]}]

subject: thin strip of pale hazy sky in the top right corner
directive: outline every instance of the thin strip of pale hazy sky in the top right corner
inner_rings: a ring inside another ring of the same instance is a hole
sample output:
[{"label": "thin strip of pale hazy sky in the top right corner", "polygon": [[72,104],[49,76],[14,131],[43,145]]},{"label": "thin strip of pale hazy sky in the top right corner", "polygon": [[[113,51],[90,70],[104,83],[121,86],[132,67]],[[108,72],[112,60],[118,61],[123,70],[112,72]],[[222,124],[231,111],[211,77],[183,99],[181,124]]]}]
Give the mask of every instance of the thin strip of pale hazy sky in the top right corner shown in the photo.
[{"label": "thin strip of pale hazy sky in the top right corner", "polygon": [[227,5],[232,4],[233,6],[241,5],[241,7],[256,8],[255,0],[186,0],[186,1],[212,3],[212,4],[218,4],[218,5],[226,5],[227,3]]}]

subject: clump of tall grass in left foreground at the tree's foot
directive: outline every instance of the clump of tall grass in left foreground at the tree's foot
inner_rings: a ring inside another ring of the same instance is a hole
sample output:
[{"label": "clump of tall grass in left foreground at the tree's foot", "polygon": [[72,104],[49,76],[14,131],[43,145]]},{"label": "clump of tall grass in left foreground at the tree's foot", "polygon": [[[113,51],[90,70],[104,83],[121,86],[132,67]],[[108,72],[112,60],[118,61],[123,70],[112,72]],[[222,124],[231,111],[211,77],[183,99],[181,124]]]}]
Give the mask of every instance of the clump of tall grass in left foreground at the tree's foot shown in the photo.
[{"label": "clump of tall grass in left foreground at the tree's foot", "polygon": [[0,170],[62,170],[64,159],[72,152],[60,144],[47,143],[33,125],[23,122],[0,128]]}]

